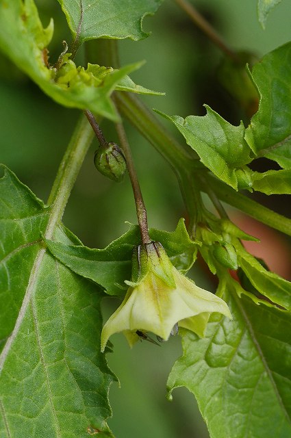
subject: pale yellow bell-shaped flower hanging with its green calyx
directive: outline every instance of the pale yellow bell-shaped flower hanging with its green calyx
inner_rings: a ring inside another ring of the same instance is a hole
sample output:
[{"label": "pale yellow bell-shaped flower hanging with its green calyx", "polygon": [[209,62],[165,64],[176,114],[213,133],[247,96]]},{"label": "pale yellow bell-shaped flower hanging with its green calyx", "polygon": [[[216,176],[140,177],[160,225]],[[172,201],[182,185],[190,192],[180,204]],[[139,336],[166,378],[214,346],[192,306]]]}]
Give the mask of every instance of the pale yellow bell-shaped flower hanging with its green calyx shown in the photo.
[{"label": "pale yellow bell-shaped flower hanging with its green calyx", "polygon": [[212,312],[231,318],[226,302],[181,274],[159,242],[136,248],[132,279],[126,283],[122,304],[103,326],[102,351],[109,337],[121,331],[132,346],[147,332],[167,340],[177,323],[203,336]]}]

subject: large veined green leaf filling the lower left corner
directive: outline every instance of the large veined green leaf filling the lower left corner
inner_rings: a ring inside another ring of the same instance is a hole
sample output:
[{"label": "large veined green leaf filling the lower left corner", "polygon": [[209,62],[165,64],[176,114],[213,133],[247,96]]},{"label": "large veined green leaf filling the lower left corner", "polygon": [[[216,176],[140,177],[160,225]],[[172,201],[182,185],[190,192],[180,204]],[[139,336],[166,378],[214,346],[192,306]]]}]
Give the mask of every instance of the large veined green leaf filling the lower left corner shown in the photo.
[{"label": "large veined green leaf filling the lower left corner", "polygon": [[[40,243],[51,209],[8,169],[0,179],[0,436],[112,436],[114,380],[100,352],[102,293]],[[70,233],[54,229],[66,243]]]}]

